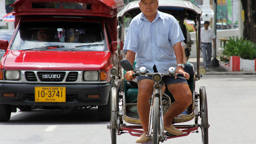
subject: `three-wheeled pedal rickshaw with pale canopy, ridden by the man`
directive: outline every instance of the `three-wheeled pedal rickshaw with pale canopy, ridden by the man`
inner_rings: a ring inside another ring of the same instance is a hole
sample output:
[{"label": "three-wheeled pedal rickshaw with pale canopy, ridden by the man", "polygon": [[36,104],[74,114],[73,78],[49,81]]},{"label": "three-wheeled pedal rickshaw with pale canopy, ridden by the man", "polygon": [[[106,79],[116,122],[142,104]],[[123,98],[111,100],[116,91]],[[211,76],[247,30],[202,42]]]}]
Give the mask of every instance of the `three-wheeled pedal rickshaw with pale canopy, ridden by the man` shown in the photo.
[{"label": "three-wheeled pedal rickshaw with pale canopy, ridden by the man", "polygon": [[[117,61],[121,64],[118,64],[117,67],[111,69],[111,78],[117,83],[116,87],[112,87],[111,89],[111,120],[110,123],[107,125],[107,128],[110,129],[112,144],[116,143],[117,135],[129,133],[132,136],[140,137],[143,133],[143,131],[141,130],[142,126],[140,124],[140,118],[137,112],[138,88],[131,85],[127,86],[127,83],[129,82],[124,79],[124,74],[126,70],[128,71],[135,69],[136,61],[132,66],[129,62],[127,62],[127,60],[121,60],[119,57],[119,53],[122,51],[123,48],[123,42],[121,41],[121,39],[123,38],[122,32],[124,30],[124,17],[134,18],[136,15],[138,15],[141,12],[138,3],[139,1],[134,1],[127,4],[117,14],[118,39],[116,53],[118,56]],[[195,66],[191,63],[188,63],[193,67],[194,71],[194,75],[190,76],[190,79],[188,80],[188,84],[193,95],[192,104],[187,108],[188,115],[179,117],[177,116],[173,120],[173,122],[175,123],[173,126],[182,130],[183,133],[181,135],[172,135],[168,132],[164,132],[162,121],[163,115],[168,110],[174,99],[172,98],[172,94],[168,90],[166,90],[165,92],[161,91],[161,75],[178,75],[174,74],[175,68],[169,68],[166,74],[146,73],[144,68],[135,70],[136,73],[134,74],[134,76],[153,75],[152,79],[155,82],[154,93],[152,94],[152,99],[149,101],[149,103],[151,104],[151,112],[149,117],[149,131],[147,136],[152,140],[152,142],[150,143],[159,143],[167,139],[187,136],[190,132],[198,132],[198,129],[200,128],[202,131],[202,143],[208,143],[208,128],[210,125],[208,124],[206,91],[204,86],[200,87],[199,93],[197,93],[195,90],[196,81],[200,80],[200,78],[206,73],[206,68],[199,68],[201,25],[200,16],[202,14],[202,10],[192,2],[183,0],[161,0],[158,3],[158,10],[174,16],[178,20],[181,28],[183,27],[184,20],[194,21],[196,27],[197,64],[195,71]],[[154,74],[156,76],[156,80],[154,80]],[[163,94],[163,96],[161,96],[161,94]],[[198,121],[200,120],[199,117],[201,118],[201,122],[198,123]],[[192,119],[195,120],[195,124],[177,124],[187,122]],[[125,122],[132,125],[126,125]]]}]

